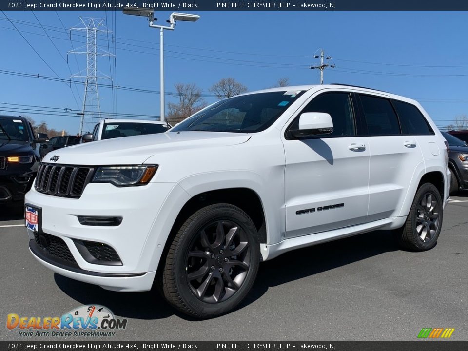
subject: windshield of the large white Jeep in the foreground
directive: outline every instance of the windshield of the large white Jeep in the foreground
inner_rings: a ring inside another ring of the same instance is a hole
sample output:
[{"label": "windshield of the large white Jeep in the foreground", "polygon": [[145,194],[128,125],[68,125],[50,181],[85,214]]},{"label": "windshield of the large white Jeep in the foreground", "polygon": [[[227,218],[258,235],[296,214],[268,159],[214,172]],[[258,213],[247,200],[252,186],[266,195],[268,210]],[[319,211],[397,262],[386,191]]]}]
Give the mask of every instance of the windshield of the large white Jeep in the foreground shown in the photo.
[{"label": "windshield of the large white Jeep in the foreground", "polygon": [[255,133],[270,127],[303,91],[278,91],[228,98],[208,106],[171,132]]}]

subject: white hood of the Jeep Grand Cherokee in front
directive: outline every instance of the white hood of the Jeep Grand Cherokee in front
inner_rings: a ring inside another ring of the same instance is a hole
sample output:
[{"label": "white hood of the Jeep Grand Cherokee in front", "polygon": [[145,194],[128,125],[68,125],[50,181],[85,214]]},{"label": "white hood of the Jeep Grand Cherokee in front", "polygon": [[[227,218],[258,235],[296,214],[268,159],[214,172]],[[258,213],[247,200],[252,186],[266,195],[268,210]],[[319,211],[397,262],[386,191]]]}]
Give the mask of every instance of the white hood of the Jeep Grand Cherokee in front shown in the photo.
[{"label": "white hood of the Jeep Grand Cherokee in front", "polygon": [[[248,134],[223,132],[169,132],[120,137],[55,150],[48,153],[43,161],[90,166],[140,164],[159,153],[236,145],[246,142],[250,137]],[[54,156],[59,156],[55,162],[51,160]]]}]

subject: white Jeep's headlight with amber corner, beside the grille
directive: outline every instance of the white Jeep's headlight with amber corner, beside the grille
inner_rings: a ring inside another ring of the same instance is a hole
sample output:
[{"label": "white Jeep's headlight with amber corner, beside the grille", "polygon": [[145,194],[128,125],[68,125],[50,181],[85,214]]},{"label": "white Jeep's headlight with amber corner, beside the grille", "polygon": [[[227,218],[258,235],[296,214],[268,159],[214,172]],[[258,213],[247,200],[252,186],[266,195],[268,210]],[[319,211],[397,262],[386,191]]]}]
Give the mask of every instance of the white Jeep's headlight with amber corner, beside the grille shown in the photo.
[{"label": "white Jeep's headlight with amber corner, beside the grille", "polygon": [[115,186],[144,185],[153,178],[157,165],[99,167],[93,183],[112,183]]}]

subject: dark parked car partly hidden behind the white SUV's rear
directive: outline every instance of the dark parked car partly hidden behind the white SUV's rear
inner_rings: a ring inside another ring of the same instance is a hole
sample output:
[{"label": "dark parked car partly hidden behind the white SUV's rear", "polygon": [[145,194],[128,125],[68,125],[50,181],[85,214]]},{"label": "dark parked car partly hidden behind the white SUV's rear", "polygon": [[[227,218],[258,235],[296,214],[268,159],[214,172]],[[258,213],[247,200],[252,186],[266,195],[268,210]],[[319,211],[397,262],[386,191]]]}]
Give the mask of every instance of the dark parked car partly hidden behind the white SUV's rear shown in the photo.
[{"label": "dark parked car partly hidden behind the white SUV's rear", "polygon": [[452,173],[450,194],[468,189],[468,144],[453,135],[442,132],[448,142],[448,168]]}]

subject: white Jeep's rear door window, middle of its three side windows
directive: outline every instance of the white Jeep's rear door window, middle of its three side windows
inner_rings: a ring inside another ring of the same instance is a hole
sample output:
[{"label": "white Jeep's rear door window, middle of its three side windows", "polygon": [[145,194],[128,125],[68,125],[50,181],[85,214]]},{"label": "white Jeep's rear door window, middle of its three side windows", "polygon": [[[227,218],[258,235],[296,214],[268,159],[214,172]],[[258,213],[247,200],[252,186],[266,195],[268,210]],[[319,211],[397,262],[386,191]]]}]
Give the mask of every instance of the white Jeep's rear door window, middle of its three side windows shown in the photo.
[{"label": "white Jeep's rear door window, middle of its three side windows", "polygon": [[400,134],[398,117],[396,117],[390,100],[369,95],[359,95],[359,97],[361,98],[369,135]]}]

